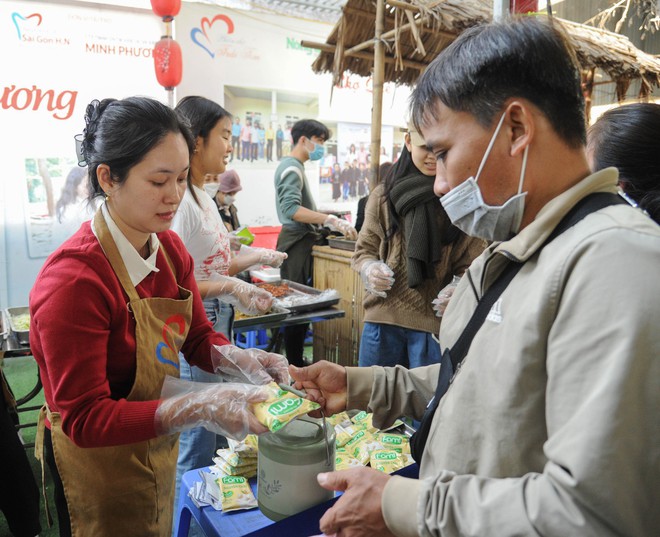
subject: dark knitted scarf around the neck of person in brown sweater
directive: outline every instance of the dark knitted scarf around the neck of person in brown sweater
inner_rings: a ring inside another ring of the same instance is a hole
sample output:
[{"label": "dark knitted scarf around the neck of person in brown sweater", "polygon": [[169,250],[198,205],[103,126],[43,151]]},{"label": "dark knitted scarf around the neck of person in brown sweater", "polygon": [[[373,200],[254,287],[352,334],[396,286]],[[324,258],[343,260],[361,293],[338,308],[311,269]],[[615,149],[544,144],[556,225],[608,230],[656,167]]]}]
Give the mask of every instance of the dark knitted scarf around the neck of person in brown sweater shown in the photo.
[{"label": "dark knitted scarf around the neck of person in brown sweater", "polygon": [[434,278],[434,265],[442,254],[441,230],[437,214],[438,197],[433,177],[419,172],[398,179],[390,192],[397,214],[403,219],[408,258],[408,287],[414,289],[425,279]]}]

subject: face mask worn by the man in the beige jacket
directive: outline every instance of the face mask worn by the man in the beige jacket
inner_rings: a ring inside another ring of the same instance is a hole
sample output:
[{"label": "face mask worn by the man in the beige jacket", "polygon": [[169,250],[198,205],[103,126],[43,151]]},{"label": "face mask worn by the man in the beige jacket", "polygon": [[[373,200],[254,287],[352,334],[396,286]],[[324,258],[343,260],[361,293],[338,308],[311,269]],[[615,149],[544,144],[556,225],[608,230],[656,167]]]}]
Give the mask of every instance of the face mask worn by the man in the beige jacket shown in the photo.
[{"label": "face mask worn by the man in the beige jacket", "polygon": [[502,114],[486,148],[486,153],[481,159],[477,176],[470,177],[440,198],[440,203],[442,203],[452,224],[471,237],[479,237],[488,241],[505,241],[518,233],[525,211],[527,192],[522,192],[522,185],[525,179],[529,146],[525,147],[523,153],[518,194],[509,198],[504,205],[487,205],[477,184],[481,170],[486,164],[490,151],[493,149],[495,138],[500,132],[503,122],[504,114]]}]

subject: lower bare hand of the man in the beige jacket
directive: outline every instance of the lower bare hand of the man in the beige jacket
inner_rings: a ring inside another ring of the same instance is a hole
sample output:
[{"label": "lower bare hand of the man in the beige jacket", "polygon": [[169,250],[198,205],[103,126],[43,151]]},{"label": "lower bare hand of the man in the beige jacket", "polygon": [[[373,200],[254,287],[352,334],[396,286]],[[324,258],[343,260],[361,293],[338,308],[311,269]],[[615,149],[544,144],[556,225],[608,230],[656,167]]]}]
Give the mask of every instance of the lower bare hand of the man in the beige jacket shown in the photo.
[{"label": "lower bare hand of the man in the beige jacket", "polygon": [[344,491],[319,524],[325,535],[341,537],[388,537],[381,501],[389,474],[372,468],[352,468],[317,476],[319,485],[328,490]]}]

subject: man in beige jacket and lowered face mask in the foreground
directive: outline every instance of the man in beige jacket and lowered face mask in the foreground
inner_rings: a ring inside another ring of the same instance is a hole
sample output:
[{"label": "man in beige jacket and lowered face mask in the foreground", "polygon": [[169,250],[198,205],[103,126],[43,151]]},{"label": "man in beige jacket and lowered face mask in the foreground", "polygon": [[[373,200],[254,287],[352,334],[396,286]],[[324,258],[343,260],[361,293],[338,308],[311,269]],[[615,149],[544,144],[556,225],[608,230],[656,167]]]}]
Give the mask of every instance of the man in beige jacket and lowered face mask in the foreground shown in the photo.
[{"label": "man in beige jacket and lowered face mask in the foreground", "polygon": [[[495,241],[440,326],[440,365],[290,367],[326,415],[421,419],[419,479],[320,474],[326,535],[650,536],[660,528],[660,228],[591,173],[560,23],[462,33],[411,97],[452,222]],[[625,278],[622,278],[625,275]]]}]

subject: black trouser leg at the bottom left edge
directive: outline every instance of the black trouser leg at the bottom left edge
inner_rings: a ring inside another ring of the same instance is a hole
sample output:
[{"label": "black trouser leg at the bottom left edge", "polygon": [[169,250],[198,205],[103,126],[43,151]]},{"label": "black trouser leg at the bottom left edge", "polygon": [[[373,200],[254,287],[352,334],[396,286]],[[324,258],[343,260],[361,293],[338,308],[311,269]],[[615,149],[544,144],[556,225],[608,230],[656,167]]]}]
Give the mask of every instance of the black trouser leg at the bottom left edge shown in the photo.
[{"label": "black trouser leg at the bottom left edge", "polygon": [[0,388],[0,511],[12,535],[34,537],[39,523],[39,487]]}]

